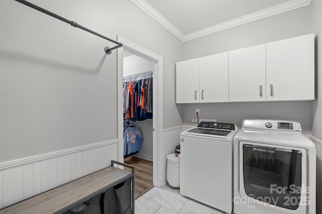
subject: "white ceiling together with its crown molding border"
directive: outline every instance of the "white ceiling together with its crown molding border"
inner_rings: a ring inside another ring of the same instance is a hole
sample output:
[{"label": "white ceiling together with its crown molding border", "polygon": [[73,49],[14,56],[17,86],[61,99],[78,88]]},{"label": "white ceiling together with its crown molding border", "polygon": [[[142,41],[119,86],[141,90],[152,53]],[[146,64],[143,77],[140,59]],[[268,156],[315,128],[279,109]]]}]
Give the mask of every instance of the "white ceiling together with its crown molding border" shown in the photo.
[{"label": "white ceiling together with its crown molding border", "polygon": [[131,0],[182,41],[310,5],[312,0]]}]

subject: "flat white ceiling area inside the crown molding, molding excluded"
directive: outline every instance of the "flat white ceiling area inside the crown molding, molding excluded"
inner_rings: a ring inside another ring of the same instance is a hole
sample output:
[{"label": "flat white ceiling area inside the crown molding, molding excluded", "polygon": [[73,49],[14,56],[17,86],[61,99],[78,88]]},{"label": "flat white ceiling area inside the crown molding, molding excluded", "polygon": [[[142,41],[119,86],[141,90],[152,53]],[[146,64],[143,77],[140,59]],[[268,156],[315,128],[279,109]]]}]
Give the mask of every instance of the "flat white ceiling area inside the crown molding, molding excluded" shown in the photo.
[{"label": "flat white ceiling area inside the crown molding, molding excluded", "polygon": [[[290,0],[288,0],[290,1]],[[191,34],[288,1],[195,0],[146,1],[183,34]]]}]

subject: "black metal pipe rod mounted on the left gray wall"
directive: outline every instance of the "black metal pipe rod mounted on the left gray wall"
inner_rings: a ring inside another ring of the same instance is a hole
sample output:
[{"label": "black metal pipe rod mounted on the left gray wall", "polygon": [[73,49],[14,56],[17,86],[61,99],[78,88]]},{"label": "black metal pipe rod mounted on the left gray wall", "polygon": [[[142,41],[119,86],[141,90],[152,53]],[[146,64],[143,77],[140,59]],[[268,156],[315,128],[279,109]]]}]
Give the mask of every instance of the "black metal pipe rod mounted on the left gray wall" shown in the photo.
[{"label": "black metal pipe rod mounted on the left gray wall", "polygon": [[104,51],[105,51],[105,53],[106,53],[106,54],[111,54],[111,53],[112,53],[112,51],[113,51],[114,49],[117,49],[117,48],[120,48],[120,47],[122,47],[122,46],[123,46],[123,44],[122,44],[122,43],[116,42],[115,40],[112,40],[112,39],[110,39],[110,38],[108,38],[108,37],[106,37],[106,36],[104,36],[104,35],[102,35],[102,34],[99,34],[99,33],[95,32],[95,31],[92,31],[91,29],[85,28],[84,26],[78,25],[77,23],[75,23],[75,22],[73,22],[73,21],[69,21],[69,20],[67,20],[67,19],[65,19],[65,18],[63,18],[63,17],[61,17],[61,16],[58,16],[57,14],[54,14],[54,13],[52,13],[52,12],[50,12],[50,11],[47,11],[47,10],[45,10],[45,9],[43,9],[43,8],[40,8],[40,7],[38,7],[38,6],[34,5],[34,4],[31,4],[30,2],[27,2],[27,1],[25,1],[25,0],[15,0],[15,1],[17,1],[17,2],[19,2],[19,3],[21,3],[21,4],[24,4],[24,5],[26,5],[26,6],[30,7],[30,8],[33,8],[33,9],[35,9],[35,10],[37,10],[37,11],[40,11],[40,12],[42,12],[42,13],[44,13],[44,14],[47,14],[47,15],[49,15],[49,16],[51,16],[51,17],[53,17],[53,18],[56,18],[56,19],[58,19],[58,20],[60,20],[60,21],[63,21],[63,22],[65,22],[65,23],[68,23],[68,24],[69,24],[69,25],[71,25],[72,27],[82,29],[82,30],[87,31],[87,32],[89,32],[89,33],[91,33],[91,34],[94,34],[94,35],[96,35],[96,36],[98,36],[98,37],[101,37],[101,38],[103,38],[103,39],[105,39],[105,40],[108,40],[108,41],[110,41],[110,42],[112,42],[112,43],[117,44],[117,46],[112,47],[112,48],[110,48],[110,47],[105,47]]}]

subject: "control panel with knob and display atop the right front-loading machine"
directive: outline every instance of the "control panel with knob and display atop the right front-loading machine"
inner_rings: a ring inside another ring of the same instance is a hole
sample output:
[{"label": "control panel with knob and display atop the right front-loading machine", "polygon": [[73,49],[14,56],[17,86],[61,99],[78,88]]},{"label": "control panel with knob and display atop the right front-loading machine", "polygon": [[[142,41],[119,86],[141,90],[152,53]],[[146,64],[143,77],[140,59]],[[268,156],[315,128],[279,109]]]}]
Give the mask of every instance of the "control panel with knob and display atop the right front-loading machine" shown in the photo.
[{"label": "control panel with knob and display atop the right front-loading machine", "polygon": [[297,121],[289,120],[257,120],[245,119],[243,128],[281,130],[281,131],[301,131],[301,125]]}]

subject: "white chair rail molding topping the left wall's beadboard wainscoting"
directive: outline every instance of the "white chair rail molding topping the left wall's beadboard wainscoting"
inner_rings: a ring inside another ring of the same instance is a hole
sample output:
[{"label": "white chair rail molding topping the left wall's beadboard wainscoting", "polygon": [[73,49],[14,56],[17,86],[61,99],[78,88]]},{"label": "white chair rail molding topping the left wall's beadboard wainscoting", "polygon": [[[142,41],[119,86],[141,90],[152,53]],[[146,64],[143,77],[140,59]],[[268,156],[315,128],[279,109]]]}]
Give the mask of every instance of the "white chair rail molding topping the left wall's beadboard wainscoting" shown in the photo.
[{"label": "white chair rail molding topping the left wall's beadboard wainscoting", "polygon": [[49,159],[49,158],[53,158],[53,157],[57,157],[57,156],[62,156],[62,155],[66,155],[66,154],[70,154],[70,153],[74,153],[74,152],[79,152],[79,151],[93,149],[93,148],[97,148],[97,147],[101,147],[101,146],[106,146],[106,145],[114,144],[114,143],[118,143],[118,139],[108,140],[108,141],[99,142],[99,143],[93,143],[93,144],[89,144],[89,145],[85,145],[85,146],[79,146],[79,147],[64,149],[64,150],[60,150],[60,151],[54,151],[54,152],[45,153],[45,154],[39,154],[39,155],[25,157],[25,158],[16,159],[16,160],[10,160],[10,161],[0,163],[0,170],[23,165],[23,164],[27,164],[27,163],[32,163],[32,162],[36,162],[36,161],[40,161],[40,160],[44,160],[44,159]]}]

